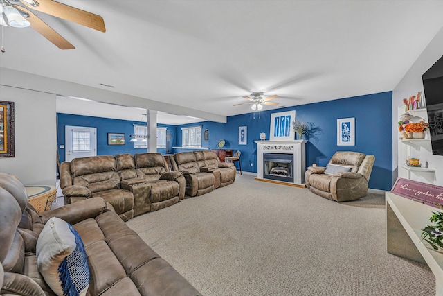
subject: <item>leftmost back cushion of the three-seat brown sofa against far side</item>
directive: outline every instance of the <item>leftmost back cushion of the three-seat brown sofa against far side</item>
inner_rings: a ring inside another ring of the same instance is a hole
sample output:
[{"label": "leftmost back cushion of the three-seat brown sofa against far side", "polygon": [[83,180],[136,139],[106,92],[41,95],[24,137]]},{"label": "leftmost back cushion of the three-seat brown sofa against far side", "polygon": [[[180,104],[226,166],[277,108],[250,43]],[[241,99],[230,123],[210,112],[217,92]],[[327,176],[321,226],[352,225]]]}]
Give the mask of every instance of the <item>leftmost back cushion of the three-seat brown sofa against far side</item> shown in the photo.
[{"label": "leftmost back cushion of the three-seat brown sofa against far side", "polygon": [[109,155],[75,158],[71,174],[73,185],[87,187],[91,193],[120,188],[116,159]]}]

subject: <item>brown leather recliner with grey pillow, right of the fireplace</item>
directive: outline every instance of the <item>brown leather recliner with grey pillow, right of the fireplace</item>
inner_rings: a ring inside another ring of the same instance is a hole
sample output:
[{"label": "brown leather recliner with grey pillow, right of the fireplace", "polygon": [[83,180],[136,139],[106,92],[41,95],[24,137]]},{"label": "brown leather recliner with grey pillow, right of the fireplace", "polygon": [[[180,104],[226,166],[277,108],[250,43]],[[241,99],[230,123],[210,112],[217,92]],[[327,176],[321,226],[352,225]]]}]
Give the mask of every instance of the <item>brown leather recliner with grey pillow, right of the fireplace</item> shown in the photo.
[{"label": "brown leather recliner with grey pillow, right of the fireplace", "polygon": [[368,182],[374,162],[374,155],[338,151],[329,160],[327,167],[307,168],[307,189],[337,202],[363,198],[368,194]]}]

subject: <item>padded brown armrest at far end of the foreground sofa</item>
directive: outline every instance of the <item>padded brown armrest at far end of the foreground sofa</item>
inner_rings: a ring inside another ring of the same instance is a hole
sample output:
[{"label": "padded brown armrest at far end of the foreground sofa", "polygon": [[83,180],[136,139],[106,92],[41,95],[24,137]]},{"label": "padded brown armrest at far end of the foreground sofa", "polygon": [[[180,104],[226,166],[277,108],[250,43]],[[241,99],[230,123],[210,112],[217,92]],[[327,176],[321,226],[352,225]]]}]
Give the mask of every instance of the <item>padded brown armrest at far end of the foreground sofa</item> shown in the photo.
[{"label": "padded brown armrest at far end of the foreground sofa", "polygon": [[105,211],[111,211],[109,204],[105,200],[102,198],[89,198],[73,204],[66,204],[57,209],[44,211],[39,213],[39,216],[42,218],[42,223],[46,223],[51,217],[57,217],[72,225],[87,218],[95,218]]}]

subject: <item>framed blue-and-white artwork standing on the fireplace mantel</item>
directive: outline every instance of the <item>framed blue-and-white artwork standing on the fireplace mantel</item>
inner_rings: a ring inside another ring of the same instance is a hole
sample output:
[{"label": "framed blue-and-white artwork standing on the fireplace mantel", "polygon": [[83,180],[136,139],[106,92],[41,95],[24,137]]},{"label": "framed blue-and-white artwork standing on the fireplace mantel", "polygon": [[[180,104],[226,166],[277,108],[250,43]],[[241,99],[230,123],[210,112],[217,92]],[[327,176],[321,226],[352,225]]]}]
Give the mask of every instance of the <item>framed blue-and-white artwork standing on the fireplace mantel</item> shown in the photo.
[{"label": "framed blue-and-white artwork standing on the fireplace mantel", "polygon": [[295,120],[296,110],[271,114],[269,141],[295,139],[295,132],[292,128],[292,121]]}]

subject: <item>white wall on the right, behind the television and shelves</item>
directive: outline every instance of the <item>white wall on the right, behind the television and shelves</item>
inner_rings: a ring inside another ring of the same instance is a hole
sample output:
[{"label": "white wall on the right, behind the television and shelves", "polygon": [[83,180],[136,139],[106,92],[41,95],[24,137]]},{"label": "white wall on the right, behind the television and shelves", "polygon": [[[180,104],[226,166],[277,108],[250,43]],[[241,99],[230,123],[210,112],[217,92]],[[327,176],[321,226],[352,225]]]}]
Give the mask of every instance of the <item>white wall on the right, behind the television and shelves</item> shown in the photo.
[{"label": "white wall on the right, behind the television and shelves", "polygon": [[[415,61],[409,71],[406,73],[403,79],[399,82],[397,87],[392,93],[392,126],[394,130],[392,132],[393,137],[395,137],[394,144],[392,145],[392,168],[398,168],[398,176],[405,177],[406,170],[398,166],[398,164],[404,164],[406,159],[404,157],[404,145],[397,144],[398,132],[397,132],[397,121],[398,114],[397,110],[400,105],[403,105],[403,98],[409,98],[410,96],[416,95],[417,92],[423,90],[422,75],[426,72],[437,60],[443,55],[443,28],[438,31],[437,35],[428,44],[423,53]],[[426,94],[425,94],[426,96]],[[432,155],[431,151],[424,148],[419,150],[412,148],[411,155],[420,159],[420,162],[424,164],[428,162],[429,168],[435,169],[435,177],[433,183],[439,186],[443,186],[443,156]],[[396,176],[395,176],[396,177]],[[420,177],[415,175],[414,179],[419,179]],[[425,178],[420,179],[421,182],[427,182]]]}]

